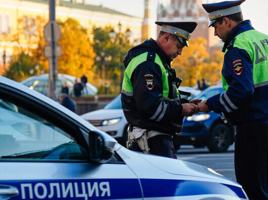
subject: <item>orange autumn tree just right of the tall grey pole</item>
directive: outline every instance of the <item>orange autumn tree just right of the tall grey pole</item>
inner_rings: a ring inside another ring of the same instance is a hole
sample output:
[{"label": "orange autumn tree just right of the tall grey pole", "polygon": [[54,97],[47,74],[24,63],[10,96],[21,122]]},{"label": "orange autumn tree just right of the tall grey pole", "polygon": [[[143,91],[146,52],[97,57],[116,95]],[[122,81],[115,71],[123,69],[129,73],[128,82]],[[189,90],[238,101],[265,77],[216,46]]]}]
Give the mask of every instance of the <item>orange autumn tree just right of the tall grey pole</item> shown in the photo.
[{"label": "orange autumn tree just right of the tall grey pole", "polygon": [[95,52],[87,29],[75,19],[59,22],[61,27],[62,56],[58,57],[58,72],[81,77],[85,74],[88,82],[93,82]]}]

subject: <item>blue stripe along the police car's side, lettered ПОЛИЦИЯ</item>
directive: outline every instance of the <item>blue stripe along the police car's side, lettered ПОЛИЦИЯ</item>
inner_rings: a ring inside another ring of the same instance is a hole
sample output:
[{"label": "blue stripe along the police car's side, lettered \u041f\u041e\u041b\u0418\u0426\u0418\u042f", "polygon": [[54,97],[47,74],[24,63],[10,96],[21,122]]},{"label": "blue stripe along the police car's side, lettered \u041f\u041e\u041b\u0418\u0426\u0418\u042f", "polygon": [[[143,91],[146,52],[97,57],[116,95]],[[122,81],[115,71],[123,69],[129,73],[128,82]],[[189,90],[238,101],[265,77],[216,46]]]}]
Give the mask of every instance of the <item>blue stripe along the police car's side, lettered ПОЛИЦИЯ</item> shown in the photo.
[{"label": "blue stripe along the police car's side, lettered \u041f\u041e\u041b\u0418\u0426\u0418\u042f", "polygon": [[[91,191],[88,189],[90,183]],[[104,184],[104,190],[101,188]],[[59,193],[51,186],[58,184]],[[223,194],[234,197],[246,198],[242,189],[237,186],[192,180],[168,180],[168,179],[141,179],[143,194],[145,198],[167,197],[167,196],[190,196],[202,194]],[[120,199],[120,198],[142,198],[142,191],[138,179],[67,179],[67,180],[7,180],[0,181],[0,185],[11,185],[17,187],[19,194],[12,199],[36,199],[42,198],[78,198],[78,199]],[[31,190],[29,190],[29,185]],[[63,187],[64,185],[64,187]],[[72,187],[73,195],[66,192],[67,186]],[[97,186],[93,190],[93,186]],[[26,186],[26,187],[24,187]],[[109,189],[107,189],[109,187]],[[44,189],[46,193],[44,193]],[[97,194],[97,193],[98,194]],[[49,196],[53,193],[53,196]],[[63,194],[65,193],[65,196]],[[67,194],[68,193],[68,194]],[[81,194],[86,195],[81,196]],[[104,195],[102,195],[104,194]]]}]

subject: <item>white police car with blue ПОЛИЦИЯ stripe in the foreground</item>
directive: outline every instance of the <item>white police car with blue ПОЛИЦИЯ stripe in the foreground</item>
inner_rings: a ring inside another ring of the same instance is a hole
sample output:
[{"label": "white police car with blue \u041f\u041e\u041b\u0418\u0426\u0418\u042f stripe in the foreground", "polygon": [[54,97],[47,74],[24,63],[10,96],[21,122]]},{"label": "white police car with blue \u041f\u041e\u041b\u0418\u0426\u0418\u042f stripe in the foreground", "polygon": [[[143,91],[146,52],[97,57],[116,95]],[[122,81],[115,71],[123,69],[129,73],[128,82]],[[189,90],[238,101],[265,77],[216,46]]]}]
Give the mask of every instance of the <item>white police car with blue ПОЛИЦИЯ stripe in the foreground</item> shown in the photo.
[{"label": "white police car with blue \u041f\u041e\u041b\u0418\u0426\u0418\u042f stripe in the foreground", "polygon": [[0,77],[0,199],[248,199],[212,169],[131,152],[50,98]]}]

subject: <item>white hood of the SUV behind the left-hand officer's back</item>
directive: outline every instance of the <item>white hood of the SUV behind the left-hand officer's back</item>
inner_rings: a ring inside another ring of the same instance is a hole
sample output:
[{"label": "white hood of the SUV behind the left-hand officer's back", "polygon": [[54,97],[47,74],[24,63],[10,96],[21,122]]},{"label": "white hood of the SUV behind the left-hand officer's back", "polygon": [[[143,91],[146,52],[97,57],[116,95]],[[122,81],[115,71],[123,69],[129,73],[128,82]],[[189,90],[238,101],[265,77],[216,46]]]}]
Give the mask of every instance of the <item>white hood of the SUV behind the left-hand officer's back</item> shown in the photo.
[{"label": "white hood of the SUV behind the left-hand officer's back", "polygon": [[85,120],[105,120],[124,117],[122,109],[101,109],[81,115]]}]

